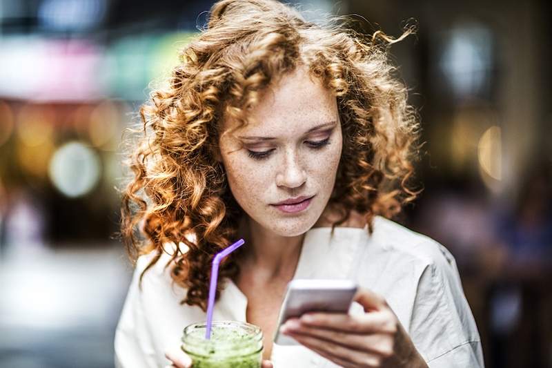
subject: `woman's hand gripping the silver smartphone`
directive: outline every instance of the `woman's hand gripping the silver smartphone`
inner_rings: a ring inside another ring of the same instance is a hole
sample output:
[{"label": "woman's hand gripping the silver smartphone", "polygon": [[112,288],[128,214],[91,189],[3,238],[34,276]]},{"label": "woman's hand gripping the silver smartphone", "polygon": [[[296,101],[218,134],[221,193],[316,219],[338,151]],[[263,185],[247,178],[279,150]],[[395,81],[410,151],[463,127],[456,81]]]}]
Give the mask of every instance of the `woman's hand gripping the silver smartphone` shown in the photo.
[{"label": "woman's hand gripping the silver smartphone", "polygon": [[342,367],[427,367],[382,296],[359,289],[362,316],[305,313],[291,318],[282,333]]}]

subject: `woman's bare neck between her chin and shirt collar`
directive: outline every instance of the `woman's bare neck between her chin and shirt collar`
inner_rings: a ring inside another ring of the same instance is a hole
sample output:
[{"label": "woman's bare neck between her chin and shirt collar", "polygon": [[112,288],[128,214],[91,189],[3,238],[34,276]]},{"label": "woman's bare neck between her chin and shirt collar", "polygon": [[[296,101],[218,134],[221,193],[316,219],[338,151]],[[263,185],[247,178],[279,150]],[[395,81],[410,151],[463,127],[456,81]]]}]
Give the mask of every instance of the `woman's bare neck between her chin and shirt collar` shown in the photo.
[{"label": "woman's bare neck between her chin and shirt collar", "polygon": [[299,263],[305,234],[278,235],[249,217],[243,225],[247,251],[242,267],[253,271],[255,277],[266,282],[282,278],[291,280]]}]

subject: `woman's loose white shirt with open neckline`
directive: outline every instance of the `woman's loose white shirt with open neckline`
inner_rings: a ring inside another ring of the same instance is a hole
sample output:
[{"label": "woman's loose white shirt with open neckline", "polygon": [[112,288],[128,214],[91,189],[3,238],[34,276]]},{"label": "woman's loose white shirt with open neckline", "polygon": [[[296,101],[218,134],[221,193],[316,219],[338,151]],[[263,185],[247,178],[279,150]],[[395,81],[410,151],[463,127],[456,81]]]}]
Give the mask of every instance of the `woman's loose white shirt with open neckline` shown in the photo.
[{"label": "woman's loose white shirt with open neckline", "polygon": [[[306,233],[294,278],[355,280],[386,299],[429,367],[484,367],[456,263],[444,246],[383,217],[375,217],[372,235],[366,228],[344,227],[330,234],[328,227]],[[164,352],[181,344],[184,327],[206,320],[199,307],[179,303],[186,292],[172,286],[167,254],[146,271],[139,291],[139,275],[151,257],[138,259],[117,325],[117,367],[164,367]],[[213,320],[246,322],[247,298],[226,282]],[[355,302],[350,313],[364,310]],[[275,368],[339,367],[302,345],[274,344],[271,360]]]}]

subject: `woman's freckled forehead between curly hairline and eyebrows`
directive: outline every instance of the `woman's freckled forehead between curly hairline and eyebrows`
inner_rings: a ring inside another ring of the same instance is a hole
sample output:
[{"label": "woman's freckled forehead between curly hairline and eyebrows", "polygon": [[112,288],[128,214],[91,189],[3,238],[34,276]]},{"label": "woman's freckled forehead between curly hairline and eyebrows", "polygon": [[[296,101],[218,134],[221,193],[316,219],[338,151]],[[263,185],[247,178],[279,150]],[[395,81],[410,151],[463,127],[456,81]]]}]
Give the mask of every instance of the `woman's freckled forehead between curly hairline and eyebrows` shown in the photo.
[{"label": "woman's freckled forehead between curly hairline and eyebrows", "polygon": [[[319,79],[297,68],[267,88],[247,117],[248,124],[235,133],[293,136],[313,126],[336,121],[337,100]],[[237,126],[231,119],[224,124],[225,130]]]}]

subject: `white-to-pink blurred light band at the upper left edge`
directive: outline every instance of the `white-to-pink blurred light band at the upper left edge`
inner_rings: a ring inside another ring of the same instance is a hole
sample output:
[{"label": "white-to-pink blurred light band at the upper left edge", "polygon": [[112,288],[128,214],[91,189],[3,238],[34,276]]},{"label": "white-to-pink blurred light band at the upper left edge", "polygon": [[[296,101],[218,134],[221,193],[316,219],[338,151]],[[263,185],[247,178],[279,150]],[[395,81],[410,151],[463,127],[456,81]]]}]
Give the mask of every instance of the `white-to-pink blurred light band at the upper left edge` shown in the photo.
[{"label": "white-to-pink blurred light band at the upper left edge", "polygon": [[88,101],[103,95],[103,48],[86,39],[0,37],[0,95],[31,101]]}]

